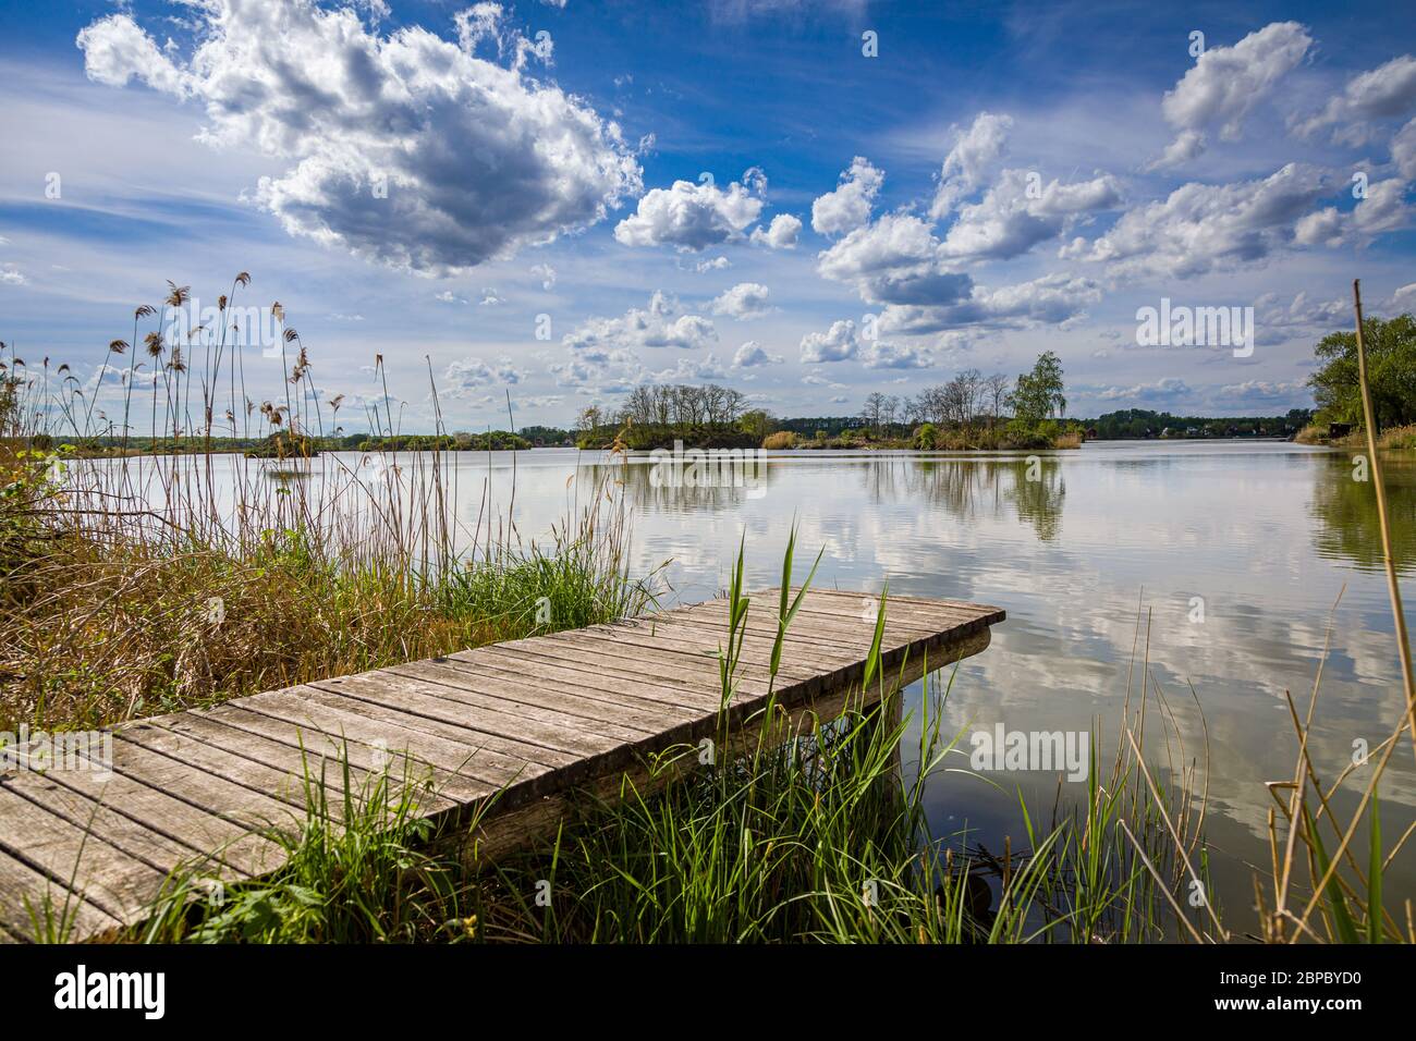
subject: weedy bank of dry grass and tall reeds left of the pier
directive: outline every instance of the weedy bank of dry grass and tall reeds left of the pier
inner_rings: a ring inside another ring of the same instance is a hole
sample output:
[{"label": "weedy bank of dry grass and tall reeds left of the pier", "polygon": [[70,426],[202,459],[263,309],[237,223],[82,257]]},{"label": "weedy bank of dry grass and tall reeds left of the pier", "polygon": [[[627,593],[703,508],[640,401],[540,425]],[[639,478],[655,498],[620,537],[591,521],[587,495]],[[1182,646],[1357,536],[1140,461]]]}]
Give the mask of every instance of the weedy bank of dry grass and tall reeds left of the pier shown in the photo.
[{"label": "weedy bank of dry grass and tall reeds left of the pier", "polygon": [[[234,280],[221,313],[248,283]],[[627,572],[629,517],[612,484],[575,490],[541,542],[521,538],[487,480],[477,516],[457,517],[449,453],[384,446],[398,445],[387,395],[367,409],[378,448],[354,460],[204,453],[218,436],[299,446],[334,435],[344,402],[320,392],[295,329],[280,399],[252,399],[249,347],[222,327],[185,327],[187,300],[170,286],[161,307],[136,309],[132,344],[109,344],[122,421],[105,415],[116,409],[96,399],[99,384],[0,344],[6,728],[120,722],[609,620],[653,598],[654,575]],[[382,357],[375,378],[387,388]],[[173,453],[76,457],[99,436],[122,453],[136,426]]]}]

